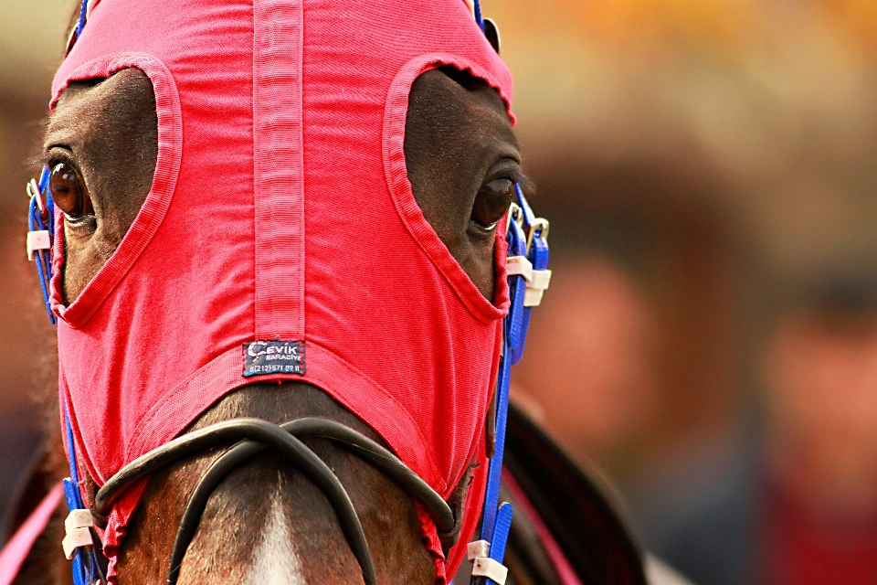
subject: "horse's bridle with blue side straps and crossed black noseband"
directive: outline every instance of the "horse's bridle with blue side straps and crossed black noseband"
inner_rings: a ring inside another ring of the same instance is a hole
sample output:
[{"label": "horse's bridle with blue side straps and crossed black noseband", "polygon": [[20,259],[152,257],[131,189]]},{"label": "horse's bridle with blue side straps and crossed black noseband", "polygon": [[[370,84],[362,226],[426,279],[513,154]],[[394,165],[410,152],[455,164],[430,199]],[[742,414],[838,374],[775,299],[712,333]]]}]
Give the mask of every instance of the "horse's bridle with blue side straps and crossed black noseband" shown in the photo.
[{"label": "horse's bridle with blue side straps and crossed black noseband", "polygon": [[[93,2],[83,0],[79,22],[71,32],[68,50],[72,48],[85,27],[92,5]],[[478,0],[473,0],[473,12],[481,30],[493,48],[499,52],[498,29],[490,19],[481,17]],[[475,580],[490,580],[498,585],[504,583],[507,573],[507,569],[502,566],[502,558],[512,521],[511,505],[507,503],[499,505],[511,366],[521,359],[530,321],[530,310],[540,303],[551,276],[551,271],[547,270],[548,222],[534,217],[520,186],[515,185],[515,192],[517,205],[512,203],[509,211],[506,237],[508,242],[506,266],[511,308],[503,320],[502,359],[488,420],[488,442],[491,443],[488,449],[491,457],[481,516],[481,540],[470,543],[468,549],[468,556],[473,561],[473,583]],[[48,189],[48,168],[43,169],[38,183],[31,181],[28,184],[27,194],[30,198],[28,255],[37,263],[37,274],[49,319],[54,324],[55,316],[52,314],[48,299],[48,282],[51,279],[52,268],[50,253],[54,241],[54,205]],[[68,558],[73,561],[74,585],[90,585],[94,581],[106,581],[100,555],[94,547],[92,527],[94,524],[106,526],[112,505],[124,490],[174,463],[217,448],[225,448],[226,451],[209,465],[198,480],[177,528],[167,578],[169,585],[175,585],[179,578],[183,558],[195,537],[210,495],[229,473],[267,449],[285,458],[322,490],[332,505],[343,536],[362,569],[365,584],[377,585],[371,552],[350,496],[329,466],[303,441],[308,439],[332,441],[345,451],[371,464],[377,471],[384,473],[395,482],[407,495],[416,499],[435,523],[441,546],[446,554],[460,535],[462,514],[459,510],[455,514],[441,495],[394,453],[336,420],[306,417],[280,425],[251,418],[217,422],[165,443],[125,465],[100,487],[91,508],[86,508],[79,489],[76,458],[72,452],[73,432],[66,408],[65,423],[70,477],[64,480],[64,493],[70,516],[66,522],[68,536],[64,539],[64,548]]]}]

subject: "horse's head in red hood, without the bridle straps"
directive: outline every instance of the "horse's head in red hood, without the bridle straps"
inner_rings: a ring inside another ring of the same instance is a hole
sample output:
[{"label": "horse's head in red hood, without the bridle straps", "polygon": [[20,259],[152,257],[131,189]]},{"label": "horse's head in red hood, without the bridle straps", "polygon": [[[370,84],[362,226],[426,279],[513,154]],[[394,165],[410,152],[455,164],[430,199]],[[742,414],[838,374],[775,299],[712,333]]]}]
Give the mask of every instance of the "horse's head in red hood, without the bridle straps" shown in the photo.
[{"label": "horse's head in red hood, without the bridle straps", "polygon": [[[508,303],[502,230],[527,180],[507,71],[466,3],[410,5],[396,25],[399,7],[368,2],[191,3],[154,15],[139,4],[83,3],[90,22],[56,78],[44,139],[63,212],[52,288],[62,417],[85,500],[174,436],[316,417],[416,469],[469,538]],[[443,325],[397,324],[417,317]],[[343,353],[339,339],[370,347]],[[253,344],[294,353],[297,369],[253,369],[262,366],[248,356],[265,353]],[[398,372],[379,378],[382,368]],[[399,395],[391,387],[406,378]],[[355,388],[371,394],[351,398]],[[111,403],[144,392],[151,403]],[[412,407],[406,396],[431,398]],[[431,444],[443,438],[448,449]],[[439,547],[424,505],[349,446],[303,441],[349,495],[377,582],[450,576],[465,542]],[[106,537],[115,579],[153,583],[179,569],[179,583],[362,582],[337,509],[273,451],[224,476],[171,566],[186,506],[229,447],[193,453],[119,497]]]}]

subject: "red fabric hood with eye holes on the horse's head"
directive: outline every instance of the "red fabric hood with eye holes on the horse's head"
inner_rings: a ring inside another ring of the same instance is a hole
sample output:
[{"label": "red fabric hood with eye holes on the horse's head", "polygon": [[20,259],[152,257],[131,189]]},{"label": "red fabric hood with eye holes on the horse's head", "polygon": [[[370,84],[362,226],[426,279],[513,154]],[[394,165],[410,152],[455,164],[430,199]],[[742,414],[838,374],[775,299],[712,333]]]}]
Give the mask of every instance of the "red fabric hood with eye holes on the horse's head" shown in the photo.
[{"label": "red fabric hood with eye holes on the horse's head", "polygon": [[[403,154],[411,84],[441,64],[469,69],[511,103],[509,71],[464,0],[93,7],[53,103],[73,80],[143,69],[159,126],[143,209],[69,306],[58,222],[60,389],[98,484],[259,380],[324,389],[446,498],[483,459],[508,307],[505,245],[491,303],[417,207]],[[304,342],[306,372],[243,377],[245,345],[259,340]],[[477,520],[480,469],[449,570]],[[141,494],[114,507],[110,555]]]}]

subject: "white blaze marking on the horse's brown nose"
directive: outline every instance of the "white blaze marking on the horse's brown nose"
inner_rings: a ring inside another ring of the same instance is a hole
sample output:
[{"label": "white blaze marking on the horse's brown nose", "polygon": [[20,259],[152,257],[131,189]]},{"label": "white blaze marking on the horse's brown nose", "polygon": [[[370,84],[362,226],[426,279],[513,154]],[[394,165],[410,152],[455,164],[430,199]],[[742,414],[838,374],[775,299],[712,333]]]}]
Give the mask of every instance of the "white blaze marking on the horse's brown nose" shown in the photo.
[{"label": "white blaze marking on the horse's brown nose", "polygon": [[307,585],[301,575],[301,561],[292,547],[280,495],[271,500],[262,542],[256,549],[254,560],[249,585]]}]

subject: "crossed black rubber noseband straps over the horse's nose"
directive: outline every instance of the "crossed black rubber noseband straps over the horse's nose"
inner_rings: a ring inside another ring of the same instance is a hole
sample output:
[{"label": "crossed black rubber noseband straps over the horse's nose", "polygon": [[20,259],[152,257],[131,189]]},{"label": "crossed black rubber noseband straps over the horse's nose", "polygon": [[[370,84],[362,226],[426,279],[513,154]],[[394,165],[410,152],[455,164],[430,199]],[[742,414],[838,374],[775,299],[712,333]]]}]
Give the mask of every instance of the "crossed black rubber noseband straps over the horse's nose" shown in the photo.
[{"label": "crossed black rubber noseband straps over the horse's nose", "polygon": [[286,456],[318,487],[333,506],[345,539],[363,571],[366,585],[376,585],[371,553],[365,533],[349,496],[332,470],[322,462],[298,437],[320,437],[336,441],[350,452],[372,463],[376,469],[394,480],[408,495],[426,507],[439,528],[439,534],[455,533],[454,514],[449,505],[405,463],[384,447],[343,424],[317,417],[291,420],[282,426],[260,419],[224,420],[198,431],[174,439],[129,463],[113,475],[95,497],[92,513],[106,523],[112,503],[130,484],[164,467],[178,463],[208,449],[234,445],[210,465],[195,486],[186,505],[183,519],[174,540],[168,583],[174,585],[185,557],[185,551],[195,537],[207,500],[228,473],[254,454],[271,448]]}]

